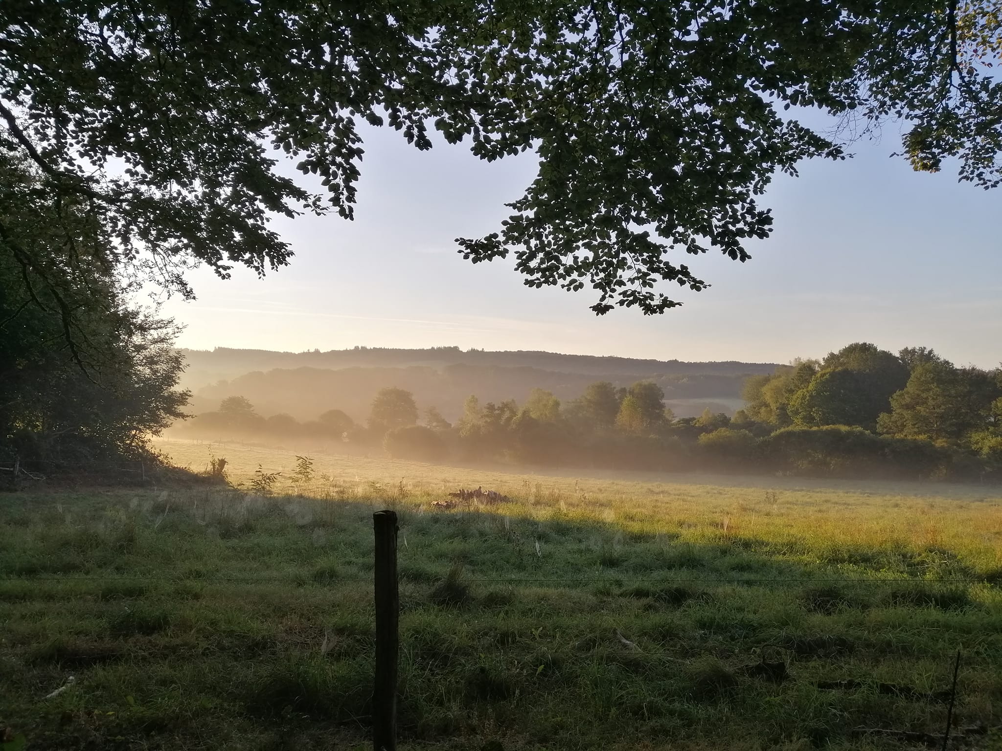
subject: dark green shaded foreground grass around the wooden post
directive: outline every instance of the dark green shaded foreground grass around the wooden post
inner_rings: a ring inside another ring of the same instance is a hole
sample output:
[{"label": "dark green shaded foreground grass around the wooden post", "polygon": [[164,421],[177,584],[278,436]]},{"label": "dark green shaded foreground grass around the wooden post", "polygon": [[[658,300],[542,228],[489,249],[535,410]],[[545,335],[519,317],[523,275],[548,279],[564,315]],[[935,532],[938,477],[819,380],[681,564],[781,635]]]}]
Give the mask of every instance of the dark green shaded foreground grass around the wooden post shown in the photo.
[{"label": "dark green shaded foreground grass around the wooden post", "polygon": [[[0,692],[72,669],[67,704],[43,712],[103,702],[118,734],[159,714],[217,740],[230,726],[247,738],[276,726],[300,738],[318,722],[366,732],[375,501],[210,490],[62,498],[58,513],[51,499],[20,502],[0,511],[23,533],[0,551],[0,575],[21,578],[0,582],[12,624],[0,656],[20,676]],[[951,551],[396,506],[407,738],[849,748],[852,723],[941,723],[922,697],[942,690],[958,646],[976,655],[962,711],[997,719],[994,574]],[[885,670],[893,681],[870,680]],[[892,683],[905,688],[868,688]],[[164,699],[178,691],[180,714]],[[29,718],[22,696],[0,699]]]}]

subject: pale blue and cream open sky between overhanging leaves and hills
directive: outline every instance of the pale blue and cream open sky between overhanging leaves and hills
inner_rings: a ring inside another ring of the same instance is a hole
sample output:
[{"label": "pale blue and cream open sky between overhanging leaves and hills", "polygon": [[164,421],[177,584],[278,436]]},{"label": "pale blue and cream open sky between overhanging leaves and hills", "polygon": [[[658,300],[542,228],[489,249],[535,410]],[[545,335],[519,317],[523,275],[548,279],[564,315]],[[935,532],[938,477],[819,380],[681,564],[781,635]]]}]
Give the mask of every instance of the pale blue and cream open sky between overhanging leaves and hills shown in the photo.
[{"label": "pale blue and cream open sky between overhanging leaves and hills", "polygon": [[596,316],[588,287],[526,287],[513,258],[473,264],[457,252],[455,237],[500,228],[504,203],[535,174],[531,154],[488,163],[463,144],[420,152],[389,128],[367,126],[364,137],[355,220],[275,219],[296,255],[264,279],[191,272],[197,299],[162,309],[185,326],[180,346],[787,362],[864,340],[893,351],[931,346],[957,364],[1002,361],[1002,188],[959,183],[955,170],[913,172],[891,157],[894,127],[853,144],[852,159],[777,176],[762,197],[775,231],[748,245],[749,261],[677,251],[711,286],[670,285],[683,305],[657,316]]}]

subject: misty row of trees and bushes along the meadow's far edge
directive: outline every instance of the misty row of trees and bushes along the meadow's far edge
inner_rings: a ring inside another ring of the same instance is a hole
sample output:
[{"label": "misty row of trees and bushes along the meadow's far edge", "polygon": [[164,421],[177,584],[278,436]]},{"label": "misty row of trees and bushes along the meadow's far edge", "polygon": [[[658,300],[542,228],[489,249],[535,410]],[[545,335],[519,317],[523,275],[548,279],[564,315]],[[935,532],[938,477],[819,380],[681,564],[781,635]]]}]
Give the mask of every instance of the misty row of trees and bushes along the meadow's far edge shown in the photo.
[{"label": "misty row of trees and bushes along the meadow's far edge", "polygon": [[1002,374],[956,367],[930,349],[895,355],[851,344],[748,379],[745,399],[733,418],[707,410],[676,419],[655,383],[597,382],[566,402],[542,389],[522,404],[470,397],[450,423],[389,388],[365,424],[339,410],[305,423],[266,419],[231,397],[187,430],[319,438],[428,462],[899,479],[1002,474]]}]

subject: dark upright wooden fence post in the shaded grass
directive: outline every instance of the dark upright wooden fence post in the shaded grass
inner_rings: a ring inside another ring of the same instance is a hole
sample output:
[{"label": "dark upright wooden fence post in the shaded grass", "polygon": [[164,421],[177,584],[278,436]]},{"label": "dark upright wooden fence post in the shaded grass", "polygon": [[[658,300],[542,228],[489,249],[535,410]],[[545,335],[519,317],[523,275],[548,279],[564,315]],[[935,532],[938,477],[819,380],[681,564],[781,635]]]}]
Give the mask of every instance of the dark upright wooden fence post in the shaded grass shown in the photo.
[{"label": "dark upright wooden fence post in the shaded grass", "polygon": [[373,689],[373,745],[397,749],[397,658],[400,597],[397,589],[397,513],[373,514],[376,533],[376,681]]}]

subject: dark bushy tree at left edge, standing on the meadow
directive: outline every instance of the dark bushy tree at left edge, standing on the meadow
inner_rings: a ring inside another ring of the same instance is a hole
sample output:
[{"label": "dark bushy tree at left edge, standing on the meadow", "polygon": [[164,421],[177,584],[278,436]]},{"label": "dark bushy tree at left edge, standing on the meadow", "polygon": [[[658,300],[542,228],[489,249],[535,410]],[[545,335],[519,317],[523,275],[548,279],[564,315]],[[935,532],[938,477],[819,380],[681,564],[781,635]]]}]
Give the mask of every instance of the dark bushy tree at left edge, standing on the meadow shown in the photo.
[{"label": "dark bushy tree at left edge, standing on the meadow", "polygon": [[[146,456],[147,436],[184,417],[175,326],[128,304],[113,269],[87,261],[100,239],[85,203],[53,207],[36,171],[5,156],[0,226],[16,231],[2,235],[13,252],[0,252],[0,463],[48,475]],[[28,245],[75,283],[26,268]]]}]

